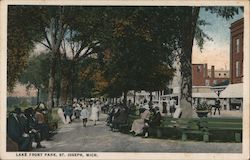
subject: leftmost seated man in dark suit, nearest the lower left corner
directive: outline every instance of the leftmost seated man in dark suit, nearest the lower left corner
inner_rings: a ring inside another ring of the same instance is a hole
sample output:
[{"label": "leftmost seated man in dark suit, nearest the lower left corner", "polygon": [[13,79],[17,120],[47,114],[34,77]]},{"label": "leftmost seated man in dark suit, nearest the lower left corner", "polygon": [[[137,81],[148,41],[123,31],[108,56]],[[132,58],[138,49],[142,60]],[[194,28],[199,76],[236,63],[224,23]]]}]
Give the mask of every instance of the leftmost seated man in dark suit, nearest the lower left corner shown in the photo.
[{"label": "leftmost seated man in dark suit, nearest the lower left corner", "polygon": [[16,108],[15,112],[10,113],[7,119],[7,134],[18,144],[19,151],[29,151],[31,149],[32,141],[30,136],[24,132],[24,128],[19,120],[20,114],[20,108]]}]

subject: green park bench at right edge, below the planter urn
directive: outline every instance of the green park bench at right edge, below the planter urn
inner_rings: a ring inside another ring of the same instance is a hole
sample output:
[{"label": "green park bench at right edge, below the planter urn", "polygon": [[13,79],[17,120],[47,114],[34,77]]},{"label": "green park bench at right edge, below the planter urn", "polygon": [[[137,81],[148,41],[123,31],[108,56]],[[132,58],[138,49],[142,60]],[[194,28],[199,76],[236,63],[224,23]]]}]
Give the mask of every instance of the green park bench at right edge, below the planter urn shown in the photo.
[{"label": "green park bench at right edge, below the planter urn", "polygon": [[220,141],[242,141],[241,118],[204,118],[198,122],[200,130],[207,133],[209,139]]}]

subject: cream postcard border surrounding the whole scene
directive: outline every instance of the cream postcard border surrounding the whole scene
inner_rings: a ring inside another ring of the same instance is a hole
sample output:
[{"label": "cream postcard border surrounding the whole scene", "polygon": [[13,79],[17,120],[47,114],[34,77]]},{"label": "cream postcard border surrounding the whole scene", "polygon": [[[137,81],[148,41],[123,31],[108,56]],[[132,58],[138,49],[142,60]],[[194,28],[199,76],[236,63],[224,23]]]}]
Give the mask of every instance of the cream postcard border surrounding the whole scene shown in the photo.
[{"label": "cream postcard border surrounding the whole scene", "polygon": [[[237,153],[114,153],[98,152],[90,159],[249,159],[249,20],[248,0],[2,0],[0,1],[0,159],[48,159],[49,157],[16,157],[18,152],[5,152],[6,147],[6,86],[7,86],[7,6],[8,5],[99,5],[99,6],[244,6],[244,84],[243,84],[243,148]],[[35,153],[35,152],[33,152]],[[61,152],[55,152],[61,153]],[[51,157],[49,159],[81,159],[81,157]]]}]

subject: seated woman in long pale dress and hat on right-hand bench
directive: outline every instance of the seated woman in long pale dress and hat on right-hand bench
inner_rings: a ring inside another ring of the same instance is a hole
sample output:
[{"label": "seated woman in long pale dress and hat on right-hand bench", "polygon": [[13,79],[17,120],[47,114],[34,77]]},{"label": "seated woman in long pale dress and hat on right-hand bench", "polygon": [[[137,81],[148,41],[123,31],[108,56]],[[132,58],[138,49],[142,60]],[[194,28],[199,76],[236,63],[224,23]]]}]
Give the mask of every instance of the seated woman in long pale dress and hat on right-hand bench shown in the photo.
[{"label": "seated woman in long pale dress and hat on right-hand bench", "polygon": [[145,120],[149,120],[150,117],[150,111],[145,110],[143,113],[141,113],[141,118],[134,120],[132,127],[131,127],[131,132],[135,132],[135,134],[141,134],[143,133],[143,128],[145,126]]}]

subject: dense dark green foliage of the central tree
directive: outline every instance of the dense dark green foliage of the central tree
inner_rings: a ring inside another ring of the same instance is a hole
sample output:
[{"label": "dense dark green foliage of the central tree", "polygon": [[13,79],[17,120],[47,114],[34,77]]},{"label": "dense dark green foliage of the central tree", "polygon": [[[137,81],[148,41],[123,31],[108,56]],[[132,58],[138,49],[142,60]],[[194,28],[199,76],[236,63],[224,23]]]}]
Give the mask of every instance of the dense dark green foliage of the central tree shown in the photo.
[{"label": "dense dark green foliage of the central tree", "polygon": [[108,91],[123,92],[124,102],[129,90],[163,90],[173,76],[169,60],[174,51],[170,47],[175,44],[171,41],[175,26],[162,19],[171,11],[164,7],[119,8],[110,40],[113,57],[106,75],[110,81]]}]

